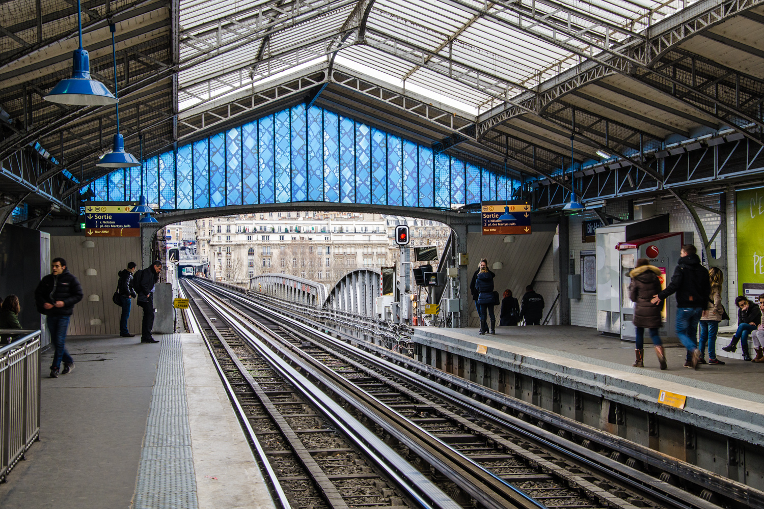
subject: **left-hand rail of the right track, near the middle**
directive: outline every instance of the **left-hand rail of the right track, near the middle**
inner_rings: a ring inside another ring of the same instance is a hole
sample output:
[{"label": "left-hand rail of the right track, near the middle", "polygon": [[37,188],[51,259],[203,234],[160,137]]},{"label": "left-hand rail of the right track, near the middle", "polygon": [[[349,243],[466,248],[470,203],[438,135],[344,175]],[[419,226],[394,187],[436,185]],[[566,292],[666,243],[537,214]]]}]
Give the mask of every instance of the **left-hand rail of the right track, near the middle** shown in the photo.
[{"label": "left-hand rail of the right track, near the middle", "polygon": [[[223,303],[222,305],[231,308],[230,304]],[[248,327],[249,330],[270,343],[271,347],[285,359],[288,359],[293,365],[299,366],[301,370],[308,372],[322,385],[331,388],[335,394],[340,395],[355,408],[363,411],[367,417],[374,420],[375,424],[390,433],[390,436],[395,437],[423,459],[426,459],[484,507],[492,509],[506,507],[545,509],[545,505],[539,501],[530,498],[523,491],[474,462],[473,459],[448,446],[448,443],[406,419],[387,404],[368,394],[367,391],[351,384],[347,379],[333,372],[332,369],[322,366],[320,362],[309,363],[306,359],[285,350],[283,345],[279,344],[281,338],[276,337],[274,341],[274,337],[267,337],[261,332],[261,330],[267,330],[268,327],[257,324],[257,321],[242,314],[240,310],[232,308],[231,311],[239,314],[244,320],[253,321],[257,328]],[[260,330],[257,330],[258,328]]]}]

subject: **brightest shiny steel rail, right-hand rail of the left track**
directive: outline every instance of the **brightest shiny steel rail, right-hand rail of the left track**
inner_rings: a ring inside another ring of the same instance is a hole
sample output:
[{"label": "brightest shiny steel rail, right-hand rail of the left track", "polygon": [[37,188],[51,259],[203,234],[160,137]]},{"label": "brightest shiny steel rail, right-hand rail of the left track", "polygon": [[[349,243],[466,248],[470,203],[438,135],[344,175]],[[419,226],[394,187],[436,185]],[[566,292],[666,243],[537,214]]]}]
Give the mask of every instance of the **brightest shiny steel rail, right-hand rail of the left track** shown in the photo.
[{"label": "brightest shiny steel rail, right-hand rail of the left track", "polygon": [[384,472],[397,482],[414,501],[424,509],[462,509],[452,498],[448,497],[437,485],[426,478],[422,472],[415,469],[398,455],[390,446],[371,433],[367,427],[358,422],[348,411],[325,395],[316,385],[309,381],[288,362],[277,356],[262,343],[252,330],[244,328],[228,311],[225,311],[218,300],[208,292],[195,288],[199,295],[206,300],[210,308],[226,321],[257,353],[268,359],[271,366],[277,370],[293,387],[296,388],[311,404],[319,408],[332,420],[333,424],[353,439],[361,451],[383,469]]}]

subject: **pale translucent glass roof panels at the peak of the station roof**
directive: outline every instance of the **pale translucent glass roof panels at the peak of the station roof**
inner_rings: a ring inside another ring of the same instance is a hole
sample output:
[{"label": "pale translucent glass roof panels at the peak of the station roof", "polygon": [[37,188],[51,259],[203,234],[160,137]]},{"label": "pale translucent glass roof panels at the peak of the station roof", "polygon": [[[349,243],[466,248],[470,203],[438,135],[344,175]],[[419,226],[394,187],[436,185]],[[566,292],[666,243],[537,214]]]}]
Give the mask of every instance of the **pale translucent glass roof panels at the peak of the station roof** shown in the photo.
[{"label": "pale translucent glass roof panels at the peak of the station roof", "polygon": [[181,0],[180,109],[336,54],[361,74],[478,114],[691,3]]}]

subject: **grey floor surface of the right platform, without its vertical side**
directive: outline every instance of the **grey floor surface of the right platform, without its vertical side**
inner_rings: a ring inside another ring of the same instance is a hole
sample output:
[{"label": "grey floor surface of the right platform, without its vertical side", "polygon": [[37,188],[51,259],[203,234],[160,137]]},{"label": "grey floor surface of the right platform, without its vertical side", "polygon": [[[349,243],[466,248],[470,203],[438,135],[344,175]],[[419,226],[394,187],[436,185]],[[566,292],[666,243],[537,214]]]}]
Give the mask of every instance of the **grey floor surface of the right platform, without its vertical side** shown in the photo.
[{"label": "grey floor surface of the right platform, without its vertical side", "polygon": [[[545,325],[531,327],[496,327],[496,334],[478,334],[478,327],[446,329],[418,327],[442,333],[465,334],[478,343],[494,341],[509,347],[519,346],[528,350],[561,356],[596,366],[637,373],[656,379],[689,385],[694,388],[711,390],[721,395],[730,395],[747,401],[764,403],[764,364],[743,362],[740,359],[719,355],[721,346],[729,343],[731,333],[720,334],[717,338],[717,357],[726,362],[724,366],[701,366],[697,371],[685,368],[687,350],[679,343],[665,345],[666,362],[669,369],[662,371],[658,365],[652,342],[646,338],[645,367],[634,368],[634,343],[621,341],[617,337],[604,336],[589,327]],[[753,350],[752,350],[753,353]],[[737,350],[740,356],[740,348]],[[707,356],[706,356],[707,359]]]}]

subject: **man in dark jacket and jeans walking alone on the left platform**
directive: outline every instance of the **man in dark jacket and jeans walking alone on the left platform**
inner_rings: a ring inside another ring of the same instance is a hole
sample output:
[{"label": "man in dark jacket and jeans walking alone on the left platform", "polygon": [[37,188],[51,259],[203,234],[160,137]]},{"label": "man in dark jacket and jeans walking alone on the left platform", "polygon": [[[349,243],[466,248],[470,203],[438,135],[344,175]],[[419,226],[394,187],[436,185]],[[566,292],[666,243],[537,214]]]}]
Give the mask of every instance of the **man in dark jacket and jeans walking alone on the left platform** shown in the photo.
[{"label": "man in dark jacket and jeans walking alone on the left platform", "polygon": [[[50,341],[56,349],[50,366],[50,378],[57,379],[59,373],[66,375],[74,369],[74,359],[66,351],[66,329],[69,327],[74,304],[83,300],[83,287],[66,269],[66,260],[63,258],[53,258],[50,272],[34,290],[34,302],[37,311],[47,316]],[[60,370],[62,360],[63,371]]]}]

